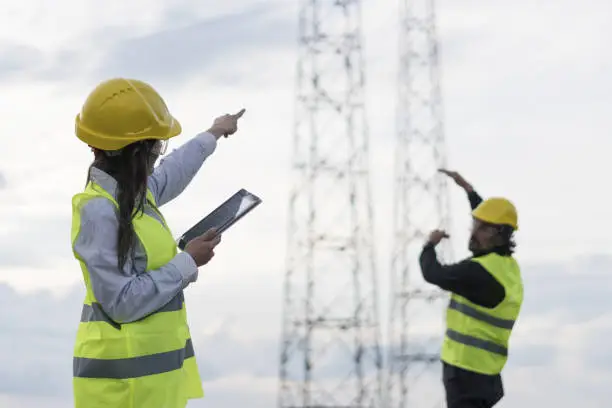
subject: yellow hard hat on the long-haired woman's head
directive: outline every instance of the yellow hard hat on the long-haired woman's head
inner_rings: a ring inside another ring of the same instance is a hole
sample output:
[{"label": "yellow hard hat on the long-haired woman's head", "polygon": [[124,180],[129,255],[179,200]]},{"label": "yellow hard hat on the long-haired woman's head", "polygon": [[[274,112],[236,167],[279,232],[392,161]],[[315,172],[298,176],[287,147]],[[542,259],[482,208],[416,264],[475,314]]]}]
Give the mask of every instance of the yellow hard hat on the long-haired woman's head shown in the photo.
[{"label": "yellow hard hat on the long-haired woman's head", "polygon": [[167,140],[181,131],[153,87],[125,78],[100,83],[85,100],[75,124],[77,137],[100,150],[119,150],[140,140]]}]

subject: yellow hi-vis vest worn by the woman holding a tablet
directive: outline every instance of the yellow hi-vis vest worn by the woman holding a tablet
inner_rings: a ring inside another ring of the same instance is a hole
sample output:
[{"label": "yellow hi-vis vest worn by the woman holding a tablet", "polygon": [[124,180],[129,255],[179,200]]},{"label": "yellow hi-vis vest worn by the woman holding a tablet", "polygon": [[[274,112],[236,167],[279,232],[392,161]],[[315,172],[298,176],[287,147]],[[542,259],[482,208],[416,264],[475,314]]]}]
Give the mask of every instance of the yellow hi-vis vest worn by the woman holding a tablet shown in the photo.
[{"label": "yellow hi-vis vest worn by the woman holding a tablet", "polygon": [[[81,208],[98,197],[118,206],[111,195],[90,182],[73,198],[73,243],[81,227]],[[163,220],[150,191],[147,199]],[[134,230],[146,251],[147,271],[176,255],[171,232],[153,217],[136,216]],[[79,263],[87,292],[74,347],[75,407],[184,408],[188,399],[202,397],[183,293],[144,319],[118,324],[96,301],[87,267],[80,259]]]}]

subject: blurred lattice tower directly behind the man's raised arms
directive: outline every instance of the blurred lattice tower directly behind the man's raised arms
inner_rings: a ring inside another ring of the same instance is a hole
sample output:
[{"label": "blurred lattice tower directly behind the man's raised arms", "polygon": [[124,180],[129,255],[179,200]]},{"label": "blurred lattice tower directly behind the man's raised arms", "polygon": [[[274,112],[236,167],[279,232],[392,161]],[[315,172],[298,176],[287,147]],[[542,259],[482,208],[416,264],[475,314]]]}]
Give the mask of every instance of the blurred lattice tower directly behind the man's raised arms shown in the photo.
[{"label": "blurred lattice tower directly behind the man's raised arms", "polygon": [[[446,296],[425,283],[427,234],[450,228],[434,0],[400,0],[388,408],[444,406],[439,349]],[[438,246],[451,256],[447,242]]]}]

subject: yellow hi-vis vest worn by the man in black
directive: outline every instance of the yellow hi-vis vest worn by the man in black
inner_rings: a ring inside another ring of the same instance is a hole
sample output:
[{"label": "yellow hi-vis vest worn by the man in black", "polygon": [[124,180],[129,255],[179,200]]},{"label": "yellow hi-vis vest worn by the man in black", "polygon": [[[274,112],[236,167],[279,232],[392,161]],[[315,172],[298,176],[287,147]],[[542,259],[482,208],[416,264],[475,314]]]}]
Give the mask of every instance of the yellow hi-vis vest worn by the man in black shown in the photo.
[{"label": "yellow hi-vis vest worn by the man in black", "polygon": [[508,359],[510,333],[523,302],[521,272],[510,256],[488,254],[472,260],[497,279],[506,296],[499,305],[487,309],[452,294],[441,359],[476,373],[499,374]]}]

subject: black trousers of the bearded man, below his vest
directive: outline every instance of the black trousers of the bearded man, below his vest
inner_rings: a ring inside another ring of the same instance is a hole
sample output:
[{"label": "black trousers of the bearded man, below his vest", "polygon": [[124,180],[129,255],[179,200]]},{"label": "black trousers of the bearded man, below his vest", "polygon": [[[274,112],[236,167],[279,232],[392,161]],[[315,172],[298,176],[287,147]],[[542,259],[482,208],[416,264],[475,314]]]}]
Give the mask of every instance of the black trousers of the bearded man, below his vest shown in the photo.
[{"label": "black trousers of the bearded man, below his vest", "polygon": [[500,375],[483,375],[442,363],[447,408],[492,408],[504,396]]}]

